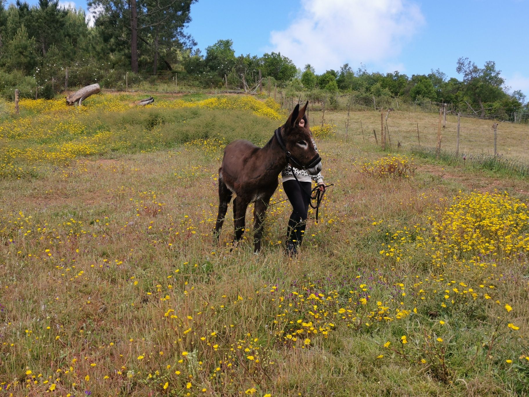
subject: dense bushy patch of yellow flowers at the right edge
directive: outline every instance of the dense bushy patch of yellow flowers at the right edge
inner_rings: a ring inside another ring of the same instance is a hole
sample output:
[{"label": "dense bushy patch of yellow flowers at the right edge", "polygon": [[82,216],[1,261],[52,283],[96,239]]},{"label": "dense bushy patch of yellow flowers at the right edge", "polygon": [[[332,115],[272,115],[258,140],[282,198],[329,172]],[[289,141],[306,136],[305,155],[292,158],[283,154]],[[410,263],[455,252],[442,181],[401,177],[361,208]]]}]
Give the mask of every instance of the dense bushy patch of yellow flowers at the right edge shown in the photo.
[{"label": "dense bushy patch of yellow flowers at the right edge", "polygon": [[529,252],[528,220],[527,205],[507,193],[460,194],[439,220],[425,220],[430,227],[417,224],[413,231],[395,231],[388,249],[380,253],[400,260],[406,253],[417,256],[422,251],[436,266],[454,260],[486,267]]}]

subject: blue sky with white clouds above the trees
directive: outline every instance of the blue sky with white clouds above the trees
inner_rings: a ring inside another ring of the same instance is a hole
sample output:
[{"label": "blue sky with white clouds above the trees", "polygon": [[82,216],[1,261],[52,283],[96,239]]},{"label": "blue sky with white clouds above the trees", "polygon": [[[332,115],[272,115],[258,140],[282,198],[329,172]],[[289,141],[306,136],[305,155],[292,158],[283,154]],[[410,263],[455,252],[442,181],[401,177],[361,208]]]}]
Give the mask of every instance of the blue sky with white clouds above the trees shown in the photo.
[{"label": "blue sky with white clouds above the trees", "polygon": [[353,70],[362,63],[411,76],[439,68],[460,77],[459,57],[478,66],[493,60],[507,85],[529,96],[528,16],[529,0],[199,0],[187,32],[202,50],[232,39],[236,55],[280,51],[318,73],[348,62]]}]

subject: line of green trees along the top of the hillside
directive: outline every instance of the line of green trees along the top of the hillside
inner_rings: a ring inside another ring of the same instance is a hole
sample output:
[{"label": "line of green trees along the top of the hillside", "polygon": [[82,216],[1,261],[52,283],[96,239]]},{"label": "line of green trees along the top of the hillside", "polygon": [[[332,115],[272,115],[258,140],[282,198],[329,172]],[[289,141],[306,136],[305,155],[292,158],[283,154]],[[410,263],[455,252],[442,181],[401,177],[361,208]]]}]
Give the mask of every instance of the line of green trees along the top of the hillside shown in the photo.
[{"label": "line of green trees along the top of the hillside", "polygon": [[[510,92],[495,62],[482,67],[460,58],[455,71],[462,77],[448,78],[441,70],[407,76],[369,72],[364,66],[353,70],[345,64],[337,70],[316,74],[311,65],[297,68],[280,53],[236,56],[231,40],[194,49],[196,42],[186,33],[190,7],[197,0],[90,0],[97,12],[93,26],[84,10],[59,6],[58,0],[39,0],[35,5],[17,0],[6,7],[0,0],[0,94],[12,97],[19,88],[22,97],[51,97],[66,68],[76,70],[70,86],[98,82],[119,87],[123,75],[174,75],[189,78],[197,86],[241,87],[261,75],[291,92],[308,91],[320,98],[329,93],[349,93],[368,106],[372,97],[380,104],[439,102],[458,105],[485,118],[509,118],[528,112],[521,91]],[[271,80],[270,80],[271,79]],[[331,95],[331,98],[334,96]],[[332,100],[331,100],[332,101]]]}]

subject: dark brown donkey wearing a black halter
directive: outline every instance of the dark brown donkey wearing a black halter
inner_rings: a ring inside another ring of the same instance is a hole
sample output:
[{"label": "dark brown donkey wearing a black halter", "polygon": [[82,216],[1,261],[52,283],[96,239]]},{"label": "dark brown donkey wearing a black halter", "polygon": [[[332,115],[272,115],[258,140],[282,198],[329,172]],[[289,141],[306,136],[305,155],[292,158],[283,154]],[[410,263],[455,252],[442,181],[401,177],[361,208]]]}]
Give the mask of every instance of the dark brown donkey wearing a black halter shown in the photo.
[{"label": "dark brown donkey wearing a black halter", "polygon": [[321,171],[321,158],[314,148],[308,123],[305,127],[299,127],[299,120],[305,115],[307,105],[308,101],[299,109],[297,104],[285,124],[274,132],[262,148],[238,139],[224,149],[222,165],[218,169],[219,203],[214,232],[217,243],[233,193],[236,195],[233,200],[233,244],[242,237],[246,210],[248,204],[253,202],[253,251],[257,254],[261,250],[263,220],[270,197],[276,191],[281,170],[290,164],[298,169],[306,169],[311,175]]}]

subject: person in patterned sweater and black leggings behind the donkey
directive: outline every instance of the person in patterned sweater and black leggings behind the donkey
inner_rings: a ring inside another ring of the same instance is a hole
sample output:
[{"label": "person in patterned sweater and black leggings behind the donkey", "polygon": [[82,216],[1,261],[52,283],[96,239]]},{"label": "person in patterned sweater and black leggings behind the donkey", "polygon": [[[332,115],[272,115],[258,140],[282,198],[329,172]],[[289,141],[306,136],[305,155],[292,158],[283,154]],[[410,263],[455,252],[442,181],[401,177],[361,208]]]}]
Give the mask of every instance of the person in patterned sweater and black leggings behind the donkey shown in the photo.
[{"label": "person in patterned sweater and black leggings behind the donkey", "polygon": [[[308,128],[306,115],[299,120],[299,127]],[[316,148],[314,139],[312,142]],[[305,170],[291,167],[288,164],[282,170],[281,178],[283,190],[290,204],[292,204],[292,213],[288,220],[286,242],[286,253],[290,256],[297,254],[298,247],[303,241],[303,234],[305,233],[305,227],[307,225],[308,205],[311,200],[312,181],[316,182],[321,192],[325,191],[325,184],[323,183],[321,173],[309,175]]]}]

